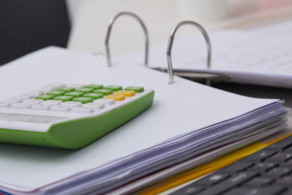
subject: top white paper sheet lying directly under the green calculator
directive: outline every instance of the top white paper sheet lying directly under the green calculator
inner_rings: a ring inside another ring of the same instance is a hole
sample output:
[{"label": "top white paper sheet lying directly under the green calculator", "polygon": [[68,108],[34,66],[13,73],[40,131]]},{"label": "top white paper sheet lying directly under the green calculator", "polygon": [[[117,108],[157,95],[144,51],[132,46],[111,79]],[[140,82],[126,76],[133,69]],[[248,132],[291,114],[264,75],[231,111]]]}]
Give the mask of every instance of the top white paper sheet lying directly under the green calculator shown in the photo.
[{"label": "top white paper sheet lying directly under the green calculator", "polygon": [[100,57],[55,47],[1,67],[1,99],[52,81],[138,85],[153,89],[155,98],[143,114],[80,150],[0,143],[0,182],[36,189],[276,101],[238,96],[177,77],[168,84],[167,78],[130,60],[109,68]]}]

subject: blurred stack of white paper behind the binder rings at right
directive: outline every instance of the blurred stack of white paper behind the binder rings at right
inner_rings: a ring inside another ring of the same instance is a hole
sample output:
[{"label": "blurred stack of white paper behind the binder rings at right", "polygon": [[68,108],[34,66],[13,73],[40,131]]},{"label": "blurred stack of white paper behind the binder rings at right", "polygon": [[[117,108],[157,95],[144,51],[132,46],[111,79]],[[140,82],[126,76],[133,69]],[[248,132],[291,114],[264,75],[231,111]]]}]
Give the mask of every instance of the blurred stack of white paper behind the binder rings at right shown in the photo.
[{"label": "blurred stack of white paper behind the binder rings at right", "polygon": [[[209,33],[211,69],[202,35],[174,39],[173,68],[180,71],[219,73],[229,82],[292,88],[292,21],[248,30]],[[149,67],[167,68],[167,42],[149,48]],[[143,65],[144,50],[122,56]]]}]

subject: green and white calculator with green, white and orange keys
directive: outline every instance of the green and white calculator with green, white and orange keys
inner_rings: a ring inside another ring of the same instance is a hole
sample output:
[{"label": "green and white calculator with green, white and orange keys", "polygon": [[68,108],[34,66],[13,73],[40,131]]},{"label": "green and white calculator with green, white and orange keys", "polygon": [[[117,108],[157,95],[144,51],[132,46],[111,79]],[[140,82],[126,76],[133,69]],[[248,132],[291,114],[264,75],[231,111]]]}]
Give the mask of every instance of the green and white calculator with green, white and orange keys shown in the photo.
[{"label": "green and white calculator with green, white and orange keys", "polygon": [[154,91],[52,83],[0,100],[0,142],[77,149],[151,106]]}]

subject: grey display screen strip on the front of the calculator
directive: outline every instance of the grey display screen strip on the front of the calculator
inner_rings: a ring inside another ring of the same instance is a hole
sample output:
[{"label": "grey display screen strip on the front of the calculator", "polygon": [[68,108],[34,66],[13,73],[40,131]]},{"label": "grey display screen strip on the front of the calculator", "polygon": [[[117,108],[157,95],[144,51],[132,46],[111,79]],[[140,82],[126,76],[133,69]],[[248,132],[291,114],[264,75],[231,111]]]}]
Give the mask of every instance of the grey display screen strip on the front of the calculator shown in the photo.
[{"label": "grey display screen strip on the front of the calculator", "polygon": [[10,114],[0,113],[0,120],[18,121],[18,122],[33,122],[33,123],[50,123],[59,120],[64,120],[66,117],[48,117],[48,116],[36,116],[36,115],[22,115],[22,114]]}]

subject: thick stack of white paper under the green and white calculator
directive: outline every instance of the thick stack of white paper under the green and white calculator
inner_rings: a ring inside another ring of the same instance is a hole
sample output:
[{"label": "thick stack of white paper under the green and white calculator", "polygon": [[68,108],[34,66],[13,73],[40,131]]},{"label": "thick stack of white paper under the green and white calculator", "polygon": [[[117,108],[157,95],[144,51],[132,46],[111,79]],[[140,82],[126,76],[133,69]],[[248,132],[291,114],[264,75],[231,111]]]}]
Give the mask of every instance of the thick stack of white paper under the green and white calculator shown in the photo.
[{"label": "thick stack of white paper under the green and white calculator", "polygon": [[[79,150],[1,143],[0,190],[127,193],[287,126],[288,109],[281,100],[243,97],[177,77],[168,84],[167,74],[130,64],[129,59],[109,68],[103,58],[51,47],[1,67],[1,99],[52,81],[144,86],[155,97],[145,112]],[[117,191],[137,179],[140,184]]]}]

